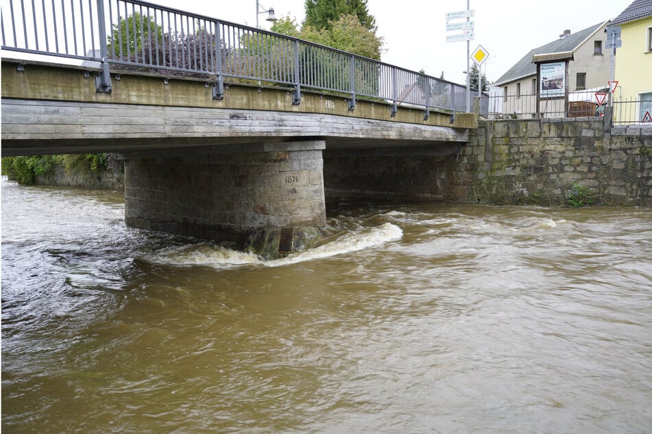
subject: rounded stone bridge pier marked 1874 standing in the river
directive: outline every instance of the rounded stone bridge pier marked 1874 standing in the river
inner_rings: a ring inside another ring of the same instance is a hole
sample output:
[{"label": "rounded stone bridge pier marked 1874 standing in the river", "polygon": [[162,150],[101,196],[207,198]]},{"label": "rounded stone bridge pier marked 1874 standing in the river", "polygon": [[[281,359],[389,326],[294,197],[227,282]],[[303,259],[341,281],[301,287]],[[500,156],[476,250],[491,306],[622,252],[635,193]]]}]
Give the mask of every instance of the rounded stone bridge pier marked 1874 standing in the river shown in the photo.
[{"label": "rounded stone bridge pier marked 1874 standing in the river", "polygon": [[325,146],[304,140],[124,154],[125,222],[267,259],[301,251],[326,225]]}]

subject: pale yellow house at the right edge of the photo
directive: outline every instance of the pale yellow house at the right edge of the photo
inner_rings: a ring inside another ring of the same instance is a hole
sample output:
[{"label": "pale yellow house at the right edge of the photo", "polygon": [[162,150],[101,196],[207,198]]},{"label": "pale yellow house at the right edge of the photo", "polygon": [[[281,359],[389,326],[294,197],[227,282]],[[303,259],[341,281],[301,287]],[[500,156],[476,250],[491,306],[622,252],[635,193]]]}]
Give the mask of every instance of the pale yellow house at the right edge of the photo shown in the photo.
[{"label": "pale yellow house at the right edge of the photo", "polygon": [[635,0],[609,23],[620,26],[614,122],[652,124],[652,0]]}]

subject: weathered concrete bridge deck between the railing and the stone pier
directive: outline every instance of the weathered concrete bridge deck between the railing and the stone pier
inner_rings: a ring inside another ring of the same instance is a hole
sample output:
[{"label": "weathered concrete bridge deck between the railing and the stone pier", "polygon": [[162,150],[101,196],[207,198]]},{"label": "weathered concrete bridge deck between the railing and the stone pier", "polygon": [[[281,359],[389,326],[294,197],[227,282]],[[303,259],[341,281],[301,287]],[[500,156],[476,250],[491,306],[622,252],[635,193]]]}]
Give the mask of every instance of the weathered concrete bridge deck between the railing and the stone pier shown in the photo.
[{"label": "weathered concrete bridge deck between the railing and the stone pier", "polygon": [[2,153],[129,152],[253,142],[325,141],[328,149],[437,146],[468,141],[477,116],[358,100],[291,88],[227,83],[213,99],[207,79],[112,71],[96,92],[98,68],[2,60]]}]

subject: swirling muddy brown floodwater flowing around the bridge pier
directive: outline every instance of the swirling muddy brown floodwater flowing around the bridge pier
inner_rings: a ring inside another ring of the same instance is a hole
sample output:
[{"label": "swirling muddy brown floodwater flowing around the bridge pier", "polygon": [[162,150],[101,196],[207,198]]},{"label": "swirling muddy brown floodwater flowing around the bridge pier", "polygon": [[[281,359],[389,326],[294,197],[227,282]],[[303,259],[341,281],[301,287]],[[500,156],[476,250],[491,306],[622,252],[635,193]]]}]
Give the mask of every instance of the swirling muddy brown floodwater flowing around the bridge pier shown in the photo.
[{"label": "swirling muddy brown floodwater flowing around the bridge pier", "polygon": [[2,180],[7,433],[650,433],[652,211],[329,203],[263,262]]}]

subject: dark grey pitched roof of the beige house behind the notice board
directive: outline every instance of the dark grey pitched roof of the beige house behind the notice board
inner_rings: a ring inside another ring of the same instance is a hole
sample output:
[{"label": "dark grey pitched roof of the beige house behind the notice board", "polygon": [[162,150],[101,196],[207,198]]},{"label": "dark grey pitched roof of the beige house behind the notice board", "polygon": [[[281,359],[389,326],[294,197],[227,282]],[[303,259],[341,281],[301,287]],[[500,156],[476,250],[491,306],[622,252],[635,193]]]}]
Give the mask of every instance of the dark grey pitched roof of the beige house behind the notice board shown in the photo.
[{"label": "dark grey pitched roof of the beige house behind the notice board", "polygon": [[[648,3],[652,2],[652,0],[643,0],[643,1],[647,1]],[[598,29],[600,29],[606,23],[607,21],[605,21],[604,23],[592,25],[587,29],[577,31],[573,34],[566,36],[565,38],[560,38],[554,40],[553,42],[548,42],[548,44],[542,45],[541,47],[531,50],[529,53],[524,55],[523,58],[521,58],[521,60],[516,62],[514,66],[509,68],[509,71],[503,74],[502,77],[497,79],[496,82],[494,83],[494,86],[500,86],[501,84],[509,83],[509,81],[514,81],[522,77],[528,77],[529,75],[536,75],[537,66],[532,63],[532,58],[535,55],[541,56],[544,54],[553,54],[553,53],[570,53],[570,55],[567,56],[570,58],[573,51],[577,50],[579,46],[587,38],[589,38],[592,34],[598,31]]]}]

